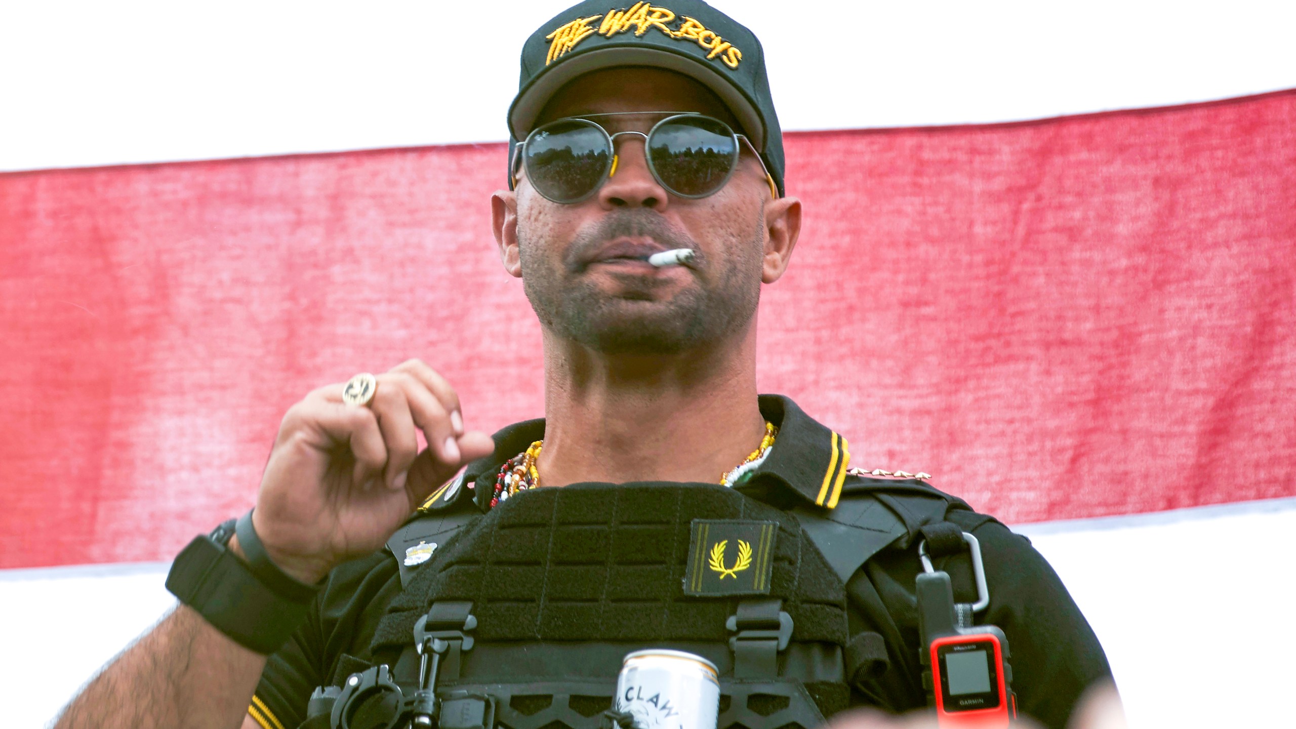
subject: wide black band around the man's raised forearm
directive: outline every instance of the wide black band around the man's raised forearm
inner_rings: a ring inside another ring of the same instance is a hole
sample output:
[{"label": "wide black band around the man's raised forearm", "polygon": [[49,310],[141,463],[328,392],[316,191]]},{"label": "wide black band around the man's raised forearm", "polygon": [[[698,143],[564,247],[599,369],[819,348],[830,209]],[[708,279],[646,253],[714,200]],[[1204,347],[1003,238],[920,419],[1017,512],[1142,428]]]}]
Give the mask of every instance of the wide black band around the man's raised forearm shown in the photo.
[{"label": "wide black band around the man's raised forearm", "polygon": [[180,551],[171,564],[166,589],[238,645],[270,655],[306,620],[318,588],[307,586],[308,594],[298,590],[293,595],[298,599],[293,599],[264,584],[227,549],[237,528],[232,521],[218,527],[211,536],[194,537]]}]

